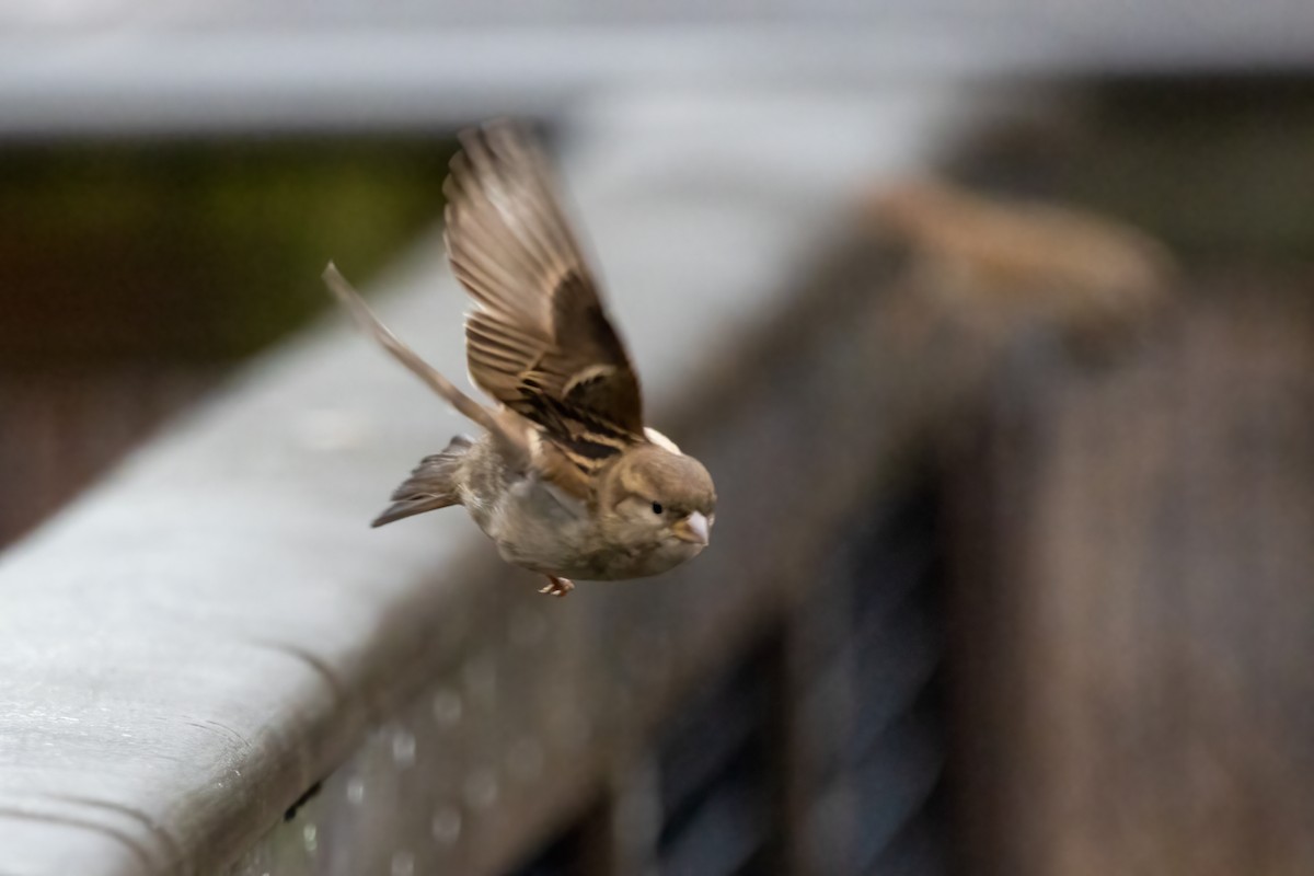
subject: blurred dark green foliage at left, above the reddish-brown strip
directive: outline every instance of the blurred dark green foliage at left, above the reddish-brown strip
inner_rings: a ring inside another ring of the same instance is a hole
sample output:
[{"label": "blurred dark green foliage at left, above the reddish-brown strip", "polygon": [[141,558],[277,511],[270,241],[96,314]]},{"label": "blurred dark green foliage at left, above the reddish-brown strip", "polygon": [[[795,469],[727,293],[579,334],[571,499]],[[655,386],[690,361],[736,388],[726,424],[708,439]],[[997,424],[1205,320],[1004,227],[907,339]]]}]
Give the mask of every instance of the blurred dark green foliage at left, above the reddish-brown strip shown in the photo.
[{"label": "blurred dark green foliage at left, above the reddish-brown strip", "polygon": [[428,231],[443,138],[0,146],[0,368],[225,362]]}]

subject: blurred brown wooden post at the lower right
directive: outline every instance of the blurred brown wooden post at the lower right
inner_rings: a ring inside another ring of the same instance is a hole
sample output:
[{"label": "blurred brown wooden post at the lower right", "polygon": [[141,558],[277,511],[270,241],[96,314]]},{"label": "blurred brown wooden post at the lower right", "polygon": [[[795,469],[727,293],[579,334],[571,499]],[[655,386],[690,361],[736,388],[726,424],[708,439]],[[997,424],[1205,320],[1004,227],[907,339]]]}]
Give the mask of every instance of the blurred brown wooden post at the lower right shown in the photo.
[{"label": "blurred brown wooden post at the lower right", "polygon": [[968,872],[1314,872],[1314,319],[1184,292],[1122,364],[1031,357],[958,473]]}]

